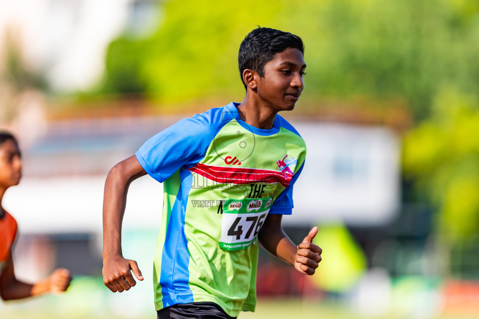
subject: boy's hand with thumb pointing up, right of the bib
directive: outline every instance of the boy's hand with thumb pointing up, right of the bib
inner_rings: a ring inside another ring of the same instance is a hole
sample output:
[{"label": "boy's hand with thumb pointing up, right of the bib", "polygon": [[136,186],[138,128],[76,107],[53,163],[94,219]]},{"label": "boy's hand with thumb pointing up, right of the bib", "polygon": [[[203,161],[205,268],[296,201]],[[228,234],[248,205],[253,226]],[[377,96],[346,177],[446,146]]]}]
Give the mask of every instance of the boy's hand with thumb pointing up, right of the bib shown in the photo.
[{"label": "boy's hand with thumb pointing up, right of the bib", "polygon": [[313,227],[313,229],[309,231],[308,236],[298,245],[295,268],[302,274],[313,275],[321,261],[321,253],[323,251],[318,245],[312,243],[317,233],[318,227]]}]

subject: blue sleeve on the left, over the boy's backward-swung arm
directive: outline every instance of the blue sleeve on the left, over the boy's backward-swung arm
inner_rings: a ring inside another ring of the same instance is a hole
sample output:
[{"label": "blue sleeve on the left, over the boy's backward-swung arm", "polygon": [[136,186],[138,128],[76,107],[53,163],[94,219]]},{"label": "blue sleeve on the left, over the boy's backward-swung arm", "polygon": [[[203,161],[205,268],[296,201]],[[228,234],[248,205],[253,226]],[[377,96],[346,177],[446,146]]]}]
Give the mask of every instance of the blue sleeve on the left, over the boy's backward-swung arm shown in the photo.
[{"label": "blue sleeve on the left, over the boy's backward-swung arm", "polygon": [[182,166],[191,167],[198,163],[218,130],[215,113],[218,112],[211,109],[195,114],[146,141],[135,155],[148,175],[162,183]]}]

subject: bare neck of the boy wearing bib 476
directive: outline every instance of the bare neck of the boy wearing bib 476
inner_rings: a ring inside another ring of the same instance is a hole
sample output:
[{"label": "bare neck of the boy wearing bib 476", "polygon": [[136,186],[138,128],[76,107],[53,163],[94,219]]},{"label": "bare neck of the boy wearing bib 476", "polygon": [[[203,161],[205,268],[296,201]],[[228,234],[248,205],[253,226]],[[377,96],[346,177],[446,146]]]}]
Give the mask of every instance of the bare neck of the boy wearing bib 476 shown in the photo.
[{"label": "bare neck of the boy wearing bib 476", "polygon": [[239,117],[247,124],[258,129],[269,130],[273,128],[277,110],[269,107],[263,100],[254,99],[246,94],[238,106]]}]

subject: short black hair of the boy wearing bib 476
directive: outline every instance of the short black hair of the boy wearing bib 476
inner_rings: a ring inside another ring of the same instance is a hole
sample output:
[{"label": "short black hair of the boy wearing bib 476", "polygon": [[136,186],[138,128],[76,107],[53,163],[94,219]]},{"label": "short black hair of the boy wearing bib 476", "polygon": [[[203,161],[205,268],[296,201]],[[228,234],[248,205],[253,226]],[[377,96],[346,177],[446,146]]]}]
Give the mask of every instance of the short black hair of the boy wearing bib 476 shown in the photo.
[{"label": "short black hair of the boy wearing bib 476", "polygon": [[[264,65],[273,60],[275,54],[287,48],[298,49],[304,55],[303,40],[295,34],[260,26],[248,33],[239,45],[238,67],[241,81],[246,69],[254,70],[260,77],[264,77]],[[243,85],[246,88],[244,81]]]}]

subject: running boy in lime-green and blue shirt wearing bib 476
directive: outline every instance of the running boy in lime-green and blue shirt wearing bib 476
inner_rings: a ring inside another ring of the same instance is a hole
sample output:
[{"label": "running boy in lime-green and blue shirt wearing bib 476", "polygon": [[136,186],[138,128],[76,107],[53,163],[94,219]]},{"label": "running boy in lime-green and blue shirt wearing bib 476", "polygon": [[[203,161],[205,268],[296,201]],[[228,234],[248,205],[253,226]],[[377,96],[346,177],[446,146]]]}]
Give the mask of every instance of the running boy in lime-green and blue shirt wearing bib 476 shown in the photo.
[{"label": "running boy in lime-green and blue shirt wearing bib 476", "polygon": [[[130,183],[163,183],[163,215],[153,281],[158,318],[233,318],[254,311],[259,243],[313,275],[321,249],[313,228],[298,246],[281,228],[306,156],[298,132],[277,115],[304,88],[304,45],[296,35],[257,28],[239,47],[241,103],[183,119],[115,165],[103,201],[103,282],[122,292],[143,280],[121,251]],[[278,278],[279,280],[280,278]]]}]

